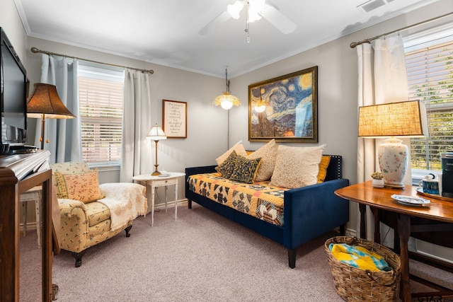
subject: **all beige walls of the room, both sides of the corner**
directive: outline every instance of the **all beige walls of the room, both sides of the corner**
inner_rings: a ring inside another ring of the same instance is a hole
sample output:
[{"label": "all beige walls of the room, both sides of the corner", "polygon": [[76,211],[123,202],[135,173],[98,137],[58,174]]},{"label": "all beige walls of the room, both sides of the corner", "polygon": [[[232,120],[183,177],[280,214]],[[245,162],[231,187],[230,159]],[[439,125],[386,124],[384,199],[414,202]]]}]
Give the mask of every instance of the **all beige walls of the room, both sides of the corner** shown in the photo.
[{"label": "all beige walls of the room, both sides of the corner", "polygon": [[[242,104],[230,110],[228,123],[228,113],[212,105],[213,98],[224,90],[224,79],[33,37],[27,38],[13,0],[6,2],[6,9],[2,4],[0,11],[0,25],[4,26],[11,42],[18,47],[19,56],[28,70],[32,84],[39,80],[40,55],[30,52],[30,47],[38,47],[42,50],[101,62],[154,69],[155,73],[150,80],[152,106],[149,112],[153,124],[161,123],[162,99],[188,102],[188,138],[168,139],[159,144],[159,167],[168,171],[183,172],[187,166],[214,164],[214,159],[224,152],[228,145],[231,146],[239,140],[243,141],[247,149],[258,149],[262,143],[248,142],[248,85],[311,66],[319,66],[319,144],[327,144],[325,153],[343,156],[343,177],[350,179],[351,183],[356,181],[357,170],[357,56],[356,51],[349,47],[350,42],[374,37],[453,11],[451,0],[438,1],[256,71],[236,76],[231,79],[231,93],[238,96]],[[150,154],[150,158],[151,156],[153,155]],[[115,173],[108,173],[108,176],[103,176],[103,182],[118,179]],[[180,182],[179,196],[184,196],[183,185],[184,183]],[[173,197],[170,195],[169,198]],[[357,228],[355,206],[351,207],[350,221],[349,228],[355,230]]]}]

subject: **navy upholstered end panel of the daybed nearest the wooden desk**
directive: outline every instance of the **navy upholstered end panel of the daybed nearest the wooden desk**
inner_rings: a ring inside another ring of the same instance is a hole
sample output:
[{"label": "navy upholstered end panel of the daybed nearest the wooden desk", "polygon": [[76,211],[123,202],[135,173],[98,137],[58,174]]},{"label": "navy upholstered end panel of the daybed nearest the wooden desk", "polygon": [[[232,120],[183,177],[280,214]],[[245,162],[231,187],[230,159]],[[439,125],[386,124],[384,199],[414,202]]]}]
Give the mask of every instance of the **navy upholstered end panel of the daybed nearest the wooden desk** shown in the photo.
[{"label": "navy upholstered end panel of the daybed nearest the wooden desk", "polygon": [[284,245],[296,248],[349,221],[349,202],[335,194],[349,180],[329,180],[285,191]]}]

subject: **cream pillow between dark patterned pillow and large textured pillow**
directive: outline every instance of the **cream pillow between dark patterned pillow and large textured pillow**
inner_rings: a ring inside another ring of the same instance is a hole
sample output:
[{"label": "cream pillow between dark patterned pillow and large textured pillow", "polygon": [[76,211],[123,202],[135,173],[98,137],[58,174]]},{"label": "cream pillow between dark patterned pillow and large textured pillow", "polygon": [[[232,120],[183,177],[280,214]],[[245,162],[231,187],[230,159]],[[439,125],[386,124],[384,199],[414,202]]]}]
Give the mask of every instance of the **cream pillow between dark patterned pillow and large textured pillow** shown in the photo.
[{"label": "cream pillow between dark patterned pillow and large textured pillow", "polygon": [[277,149],[278,145],[275,143],[275,139],[272,139],[268,144],[247,156],[249,159],[261,158],[260,166],[256,171],[255,181],[270,180],[274,172],[275,161],[277,161]]}]

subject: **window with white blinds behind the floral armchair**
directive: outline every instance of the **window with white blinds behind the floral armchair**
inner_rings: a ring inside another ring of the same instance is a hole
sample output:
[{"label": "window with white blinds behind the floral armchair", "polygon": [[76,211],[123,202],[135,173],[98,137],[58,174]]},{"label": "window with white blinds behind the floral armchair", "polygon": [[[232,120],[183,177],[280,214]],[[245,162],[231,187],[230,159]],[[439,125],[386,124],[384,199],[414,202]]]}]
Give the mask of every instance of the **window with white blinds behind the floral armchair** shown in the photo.
[{"label": "window with white blinds behind the floral armchair", "polygon": [[122,69],[79,64],[82,159],[119,164],[122,135]]}]

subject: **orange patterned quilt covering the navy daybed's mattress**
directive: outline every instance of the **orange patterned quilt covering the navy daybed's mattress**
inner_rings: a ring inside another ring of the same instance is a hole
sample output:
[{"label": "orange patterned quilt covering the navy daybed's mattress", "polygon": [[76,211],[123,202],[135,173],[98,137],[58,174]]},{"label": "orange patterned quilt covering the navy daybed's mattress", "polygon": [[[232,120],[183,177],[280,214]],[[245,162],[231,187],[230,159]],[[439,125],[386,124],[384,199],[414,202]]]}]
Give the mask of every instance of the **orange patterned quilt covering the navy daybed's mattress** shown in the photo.
[{"label": "orange patterned quilt covering the navy daybed's mattress", "polygon": [[220,173],[190,175],[191,191],[227,207],[277,226],[283,225],[283,193],[286,188],[266,182],[246,184],[222,178]]}]

